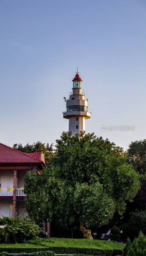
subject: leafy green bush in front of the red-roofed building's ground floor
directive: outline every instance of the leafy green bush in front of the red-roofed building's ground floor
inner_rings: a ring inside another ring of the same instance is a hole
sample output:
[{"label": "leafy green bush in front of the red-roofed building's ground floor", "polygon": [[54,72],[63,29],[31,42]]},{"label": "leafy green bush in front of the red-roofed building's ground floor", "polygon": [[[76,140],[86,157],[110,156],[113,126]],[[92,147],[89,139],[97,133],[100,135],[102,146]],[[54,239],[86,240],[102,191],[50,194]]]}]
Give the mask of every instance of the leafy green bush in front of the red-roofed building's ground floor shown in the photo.
[{"label": "leafy green bush in front of the red-roofed building's ground floor", "polygon": [[41,231],[39,226],[30,219],[23,220],[19,216],[14,219],[12,216],[2,215],[0,225],[6,225],[5,228],[0,228],[0,244],[23,243],[24,238],[26,240],[35,239]]}]

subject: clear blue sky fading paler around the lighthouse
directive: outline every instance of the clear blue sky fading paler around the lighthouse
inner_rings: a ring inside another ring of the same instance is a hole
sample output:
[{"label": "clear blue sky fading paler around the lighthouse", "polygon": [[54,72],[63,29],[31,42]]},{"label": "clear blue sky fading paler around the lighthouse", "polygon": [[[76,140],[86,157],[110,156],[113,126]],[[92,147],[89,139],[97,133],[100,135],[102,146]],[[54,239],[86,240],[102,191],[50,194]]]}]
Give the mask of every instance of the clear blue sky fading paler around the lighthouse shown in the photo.
[{"label": "clear blue sky fading paler around the lighthouse", "polygon": [[[0,1],[0,141],[54,143],[76,68],[86,132],[128,148],[146,138],[145,0]],[[135,131],[101,126],[135,125]]]}]

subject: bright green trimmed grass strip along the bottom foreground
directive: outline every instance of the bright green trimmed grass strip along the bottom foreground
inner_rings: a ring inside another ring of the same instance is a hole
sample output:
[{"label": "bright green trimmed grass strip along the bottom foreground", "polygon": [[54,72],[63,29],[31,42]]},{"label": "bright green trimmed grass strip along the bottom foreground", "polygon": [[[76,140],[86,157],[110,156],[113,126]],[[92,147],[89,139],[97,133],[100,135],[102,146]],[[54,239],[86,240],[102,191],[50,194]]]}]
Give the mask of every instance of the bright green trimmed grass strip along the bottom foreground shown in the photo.
[{"label": "bright green trimmed grass strip along the bottom foreground", "polygon": [[70,238],[40,238],[26,244],[0,244],[0,252],[36,252],[50,250],[56,254],[121,254],[124,245],[113,241],[70,239]]}]

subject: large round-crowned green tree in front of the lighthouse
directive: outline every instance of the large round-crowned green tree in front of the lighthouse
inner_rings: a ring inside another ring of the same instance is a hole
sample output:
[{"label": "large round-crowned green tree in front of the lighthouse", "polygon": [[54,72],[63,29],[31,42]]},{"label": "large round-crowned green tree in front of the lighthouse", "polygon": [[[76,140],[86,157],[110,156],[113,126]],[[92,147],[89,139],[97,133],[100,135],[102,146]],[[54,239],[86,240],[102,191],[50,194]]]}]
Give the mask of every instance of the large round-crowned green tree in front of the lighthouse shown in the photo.
[{"label": "large round-crowned green tree in front of the lighthouse", "polygon": [[117,211],[123,214],[140,187],[139,174],[126,163],[121,148],[94,133],[57,140],[50,169],[38,176],[27,172],[24,193],[35,221],[68,225],[76,220],[87,227],[107,224]]}]

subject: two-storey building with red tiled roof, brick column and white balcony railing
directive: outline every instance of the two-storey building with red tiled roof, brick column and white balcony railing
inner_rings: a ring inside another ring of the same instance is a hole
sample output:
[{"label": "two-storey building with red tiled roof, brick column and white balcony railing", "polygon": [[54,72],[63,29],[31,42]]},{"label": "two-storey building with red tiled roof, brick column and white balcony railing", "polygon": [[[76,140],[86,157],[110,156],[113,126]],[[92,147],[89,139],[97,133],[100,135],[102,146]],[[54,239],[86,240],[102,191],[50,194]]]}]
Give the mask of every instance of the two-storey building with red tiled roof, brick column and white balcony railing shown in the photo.
[{"label": "two-storey building with red tiled roof, brick column and white balcony railing", "polygon": [[[23,193],[27,171],[41,173],[45,166],[44,154],[23,153],[0,143],[0,213],[24,218],[27,215]],[[10,205],[12,205],[10,207]]]}]

